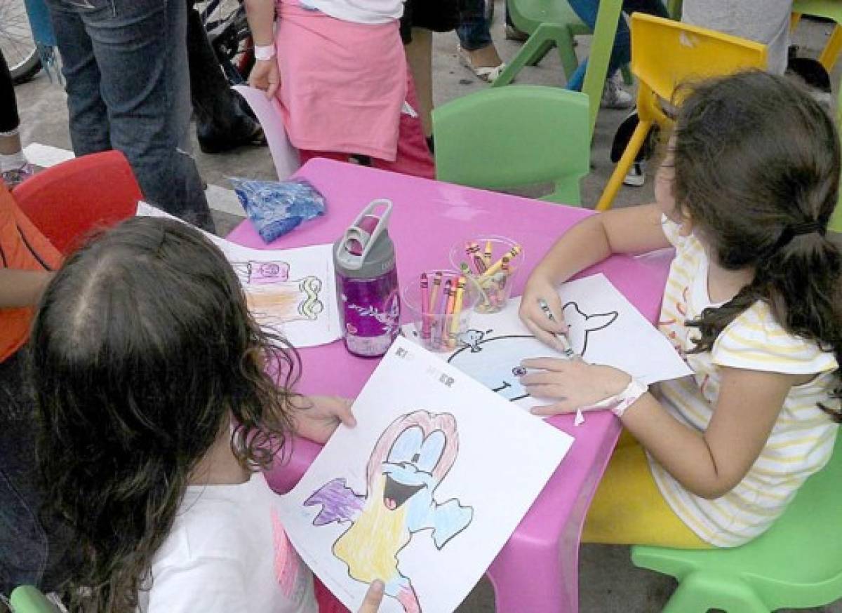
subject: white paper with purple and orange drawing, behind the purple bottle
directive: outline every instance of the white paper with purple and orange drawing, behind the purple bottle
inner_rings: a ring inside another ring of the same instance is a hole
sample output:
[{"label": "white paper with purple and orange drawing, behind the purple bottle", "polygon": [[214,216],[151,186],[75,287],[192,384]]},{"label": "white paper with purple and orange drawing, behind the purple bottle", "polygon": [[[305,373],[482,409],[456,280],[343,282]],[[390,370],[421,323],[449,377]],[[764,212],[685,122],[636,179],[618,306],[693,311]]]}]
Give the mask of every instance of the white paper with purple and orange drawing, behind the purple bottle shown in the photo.
[{"label": "white paper with purple and orange drawing, behind the purple bottle", "polygon": [[[170,217],[146,202],[137,215]],[[203,232],[225,253],[258,323],[295,347],[332,343],[341,336],[331,245],[251,249]]]}]

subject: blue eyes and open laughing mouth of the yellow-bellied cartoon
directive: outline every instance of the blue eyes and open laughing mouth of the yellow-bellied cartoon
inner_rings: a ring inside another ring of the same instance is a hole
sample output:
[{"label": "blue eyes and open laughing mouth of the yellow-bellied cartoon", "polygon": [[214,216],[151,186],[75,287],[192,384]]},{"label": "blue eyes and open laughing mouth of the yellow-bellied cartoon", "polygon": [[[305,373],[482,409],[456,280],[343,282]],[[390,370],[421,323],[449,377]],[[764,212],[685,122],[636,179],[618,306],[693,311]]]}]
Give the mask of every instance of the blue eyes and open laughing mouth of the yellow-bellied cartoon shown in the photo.
[{"label": "blue eyes and open laughing mouth of the yellow-bellied cartoon", "polygon": [[424,488],[432,492],[433,470],[445,451],[445,433],[434,430],[427,438],[418,426],[410,426],[397,437],[383,461],[383,504],[395,510]]}]

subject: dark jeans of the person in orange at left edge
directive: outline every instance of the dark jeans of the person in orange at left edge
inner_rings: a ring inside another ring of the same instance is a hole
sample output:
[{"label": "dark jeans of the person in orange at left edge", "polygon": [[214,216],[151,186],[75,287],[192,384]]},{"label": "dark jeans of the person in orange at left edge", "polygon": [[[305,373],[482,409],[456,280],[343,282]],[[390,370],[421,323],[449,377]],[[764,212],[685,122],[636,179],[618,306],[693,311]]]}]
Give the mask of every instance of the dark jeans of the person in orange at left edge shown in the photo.
[{"label": "dark jeans of the person in orange at left edge", "polygon": [[21,584],[52,591],[75,562],[69,530],[40,516],[34,402],[23,351],[0,362],[0,594]]}]

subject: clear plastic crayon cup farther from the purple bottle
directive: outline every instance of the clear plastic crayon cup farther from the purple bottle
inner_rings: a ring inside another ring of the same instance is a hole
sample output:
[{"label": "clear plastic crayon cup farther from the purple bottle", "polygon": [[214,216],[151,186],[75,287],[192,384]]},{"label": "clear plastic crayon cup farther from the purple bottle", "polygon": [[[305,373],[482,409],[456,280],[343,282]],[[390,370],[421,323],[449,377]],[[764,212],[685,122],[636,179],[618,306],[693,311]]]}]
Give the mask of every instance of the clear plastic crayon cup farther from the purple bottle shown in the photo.
[{"label": "clear plastic crayon cup farther from the purple bottle", "polygon": [[523,260],[523,248],[506,237],[470,237],[450,248],[450,264],[477,287],[474,310],[479,313],[496,313],[506,306]]}]

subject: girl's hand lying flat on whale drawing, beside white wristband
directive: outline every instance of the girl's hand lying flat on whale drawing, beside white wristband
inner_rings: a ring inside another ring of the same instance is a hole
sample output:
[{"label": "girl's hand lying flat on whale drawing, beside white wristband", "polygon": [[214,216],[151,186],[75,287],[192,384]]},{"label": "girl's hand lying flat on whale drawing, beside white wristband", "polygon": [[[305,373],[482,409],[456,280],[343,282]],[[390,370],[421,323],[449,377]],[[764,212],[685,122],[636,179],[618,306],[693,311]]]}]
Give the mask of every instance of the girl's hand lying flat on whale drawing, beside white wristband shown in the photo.
[{"label": "girl's hand lying flat on whale drawing, beside white wristband", "polygon": [[530,396],[555,401],[532,408],[531,413],[535,415],[587,410],[600,400],[616,396],[632,381],[632,377],[622,370],[613,366],[588,364],[581,358],[536,358],[523,360],[520,364],[530,370],[541,370],[520,377],[520,382]]}]

